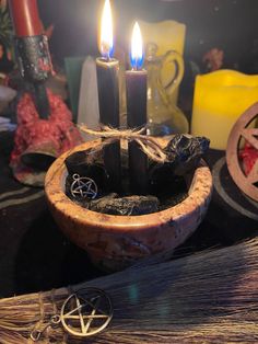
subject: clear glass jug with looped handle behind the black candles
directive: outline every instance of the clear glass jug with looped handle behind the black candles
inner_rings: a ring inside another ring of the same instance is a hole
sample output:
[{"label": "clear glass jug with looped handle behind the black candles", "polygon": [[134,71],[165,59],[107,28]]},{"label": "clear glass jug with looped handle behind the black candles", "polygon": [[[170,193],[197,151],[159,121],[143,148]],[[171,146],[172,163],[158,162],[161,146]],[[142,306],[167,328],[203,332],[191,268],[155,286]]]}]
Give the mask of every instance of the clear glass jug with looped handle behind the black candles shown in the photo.
[{"label": "clear glass jug with looped handle behind the black candles", "polygon": [[[167,50],[157,56],[157,50],[155,43],[148,43],[148,131],[154,136],[186,134],[189,125],[174,96],[177,95],[184,76],[183,57],[176,50]],[[162,78],[164,70],[166,83]]]}]

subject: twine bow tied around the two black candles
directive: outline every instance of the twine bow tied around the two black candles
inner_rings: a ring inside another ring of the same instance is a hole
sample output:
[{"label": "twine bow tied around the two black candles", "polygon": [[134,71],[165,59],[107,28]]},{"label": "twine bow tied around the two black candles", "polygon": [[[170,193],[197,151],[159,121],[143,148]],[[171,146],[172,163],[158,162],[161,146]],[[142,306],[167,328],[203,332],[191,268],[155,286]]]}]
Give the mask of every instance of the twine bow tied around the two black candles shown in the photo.
[{"label": "twine bow tied around the two black candles", "polygon": [[85,125],[79,126],[80,130],[89,135],[102,138],[102,142],[96,147],[96,151],[103,149],[106,145],[110,145],[117,140],[126,140],[128,142],[136,141],[142,151],[153,161],[159,163],[168,162],[167,154],[159,140],[152,136],[143,135],[145,127],[141,129],[116,129],[109,126],[101,125],[101,130],[87,128]]}]

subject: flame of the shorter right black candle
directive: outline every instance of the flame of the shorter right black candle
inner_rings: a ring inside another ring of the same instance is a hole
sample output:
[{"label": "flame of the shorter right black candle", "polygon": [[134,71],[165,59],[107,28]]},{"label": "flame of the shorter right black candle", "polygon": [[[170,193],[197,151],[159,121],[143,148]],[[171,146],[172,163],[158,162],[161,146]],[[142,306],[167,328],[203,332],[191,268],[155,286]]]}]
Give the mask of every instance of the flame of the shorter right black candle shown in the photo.
[{"label": "flame of the shorter right black candle", "polygon": [[131,67],[132,69],[139,70],[143,66],[143,43],[141,30],[136,22],[131,37]]}]

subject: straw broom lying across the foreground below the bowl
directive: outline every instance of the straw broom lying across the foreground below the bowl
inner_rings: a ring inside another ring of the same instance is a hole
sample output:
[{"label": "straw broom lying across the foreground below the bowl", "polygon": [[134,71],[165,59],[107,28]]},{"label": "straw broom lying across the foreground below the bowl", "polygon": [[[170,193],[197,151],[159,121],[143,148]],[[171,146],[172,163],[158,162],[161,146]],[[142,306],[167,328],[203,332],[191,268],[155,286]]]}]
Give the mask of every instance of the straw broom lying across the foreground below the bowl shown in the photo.
[{"label": "straw broom lying across the foreground below the bowl", "polygon": [[[153,263],[153,262],[152,262]],[[145,264],[146,265],[146,264]],[[114,318],[89,340],[49,329],[38,343],[258,343],[258,239],[73,286],[109,294]],[[68,289],[0,300],[0,343],[33,343]]]}]

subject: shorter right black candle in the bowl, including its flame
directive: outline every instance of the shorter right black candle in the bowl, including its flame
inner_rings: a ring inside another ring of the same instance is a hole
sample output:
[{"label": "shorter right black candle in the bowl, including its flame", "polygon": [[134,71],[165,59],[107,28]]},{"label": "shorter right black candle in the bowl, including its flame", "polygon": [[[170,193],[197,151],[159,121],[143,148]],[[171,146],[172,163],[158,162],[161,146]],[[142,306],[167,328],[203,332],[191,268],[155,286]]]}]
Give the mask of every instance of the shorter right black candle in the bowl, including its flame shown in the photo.
[{"label": "shorter right black candle in the bowl, including its flame", "polygon": [[[126,72],[127,124],[129,128],[146,125],[146,71],[142,69],[142,38],[138,23],[133,27],[131,46],[132,70]],[[129,142],[129,174],[134,194],[148,193],[148,159],[137,142]]]}]

